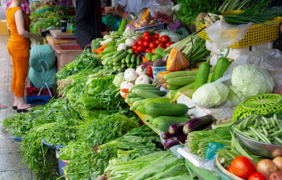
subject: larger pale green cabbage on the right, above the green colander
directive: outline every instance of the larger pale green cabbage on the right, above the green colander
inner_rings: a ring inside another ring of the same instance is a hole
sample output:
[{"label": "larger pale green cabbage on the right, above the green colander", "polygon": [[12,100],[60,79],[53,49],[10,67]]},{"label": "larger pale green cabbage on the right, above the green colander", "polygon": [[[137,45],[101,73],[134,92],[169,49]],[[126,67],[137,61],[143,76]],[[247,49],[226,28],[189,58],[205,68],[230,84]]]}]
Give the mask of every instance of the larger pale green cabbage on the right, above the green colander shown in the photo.
[{"label": "larger pale green cabbage on the right, above the green colander", "polygon": [[251,64],[234,68],[231,77],[232,86],[236,87],[246,98],[273,91],[274,81],[267,71]]}]

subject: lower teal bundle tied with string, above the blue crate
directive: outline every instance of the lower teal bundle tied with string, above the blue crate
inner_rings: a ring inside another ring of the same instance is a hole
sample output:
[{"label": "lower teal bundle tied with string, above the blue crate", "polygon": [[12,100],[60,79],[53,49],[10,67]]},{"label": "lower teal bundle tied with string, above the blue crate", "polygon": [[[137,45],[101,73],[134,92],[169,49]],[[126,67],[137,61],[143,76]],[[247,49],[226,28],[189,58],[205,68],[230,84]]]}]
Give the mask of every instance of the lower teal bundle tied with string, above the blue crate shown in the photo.
[{"label": "lower teal bundle tied with string, above the blue crate", "polygon": [[55,84],[56,73],[56,66],[51,67],[45,72],[39,72],[30,67],[29,79],[36,88],[40,89],[38,95],[40,95],[42,89],[47,89],[52,97],[50,88],[52,88]]}]

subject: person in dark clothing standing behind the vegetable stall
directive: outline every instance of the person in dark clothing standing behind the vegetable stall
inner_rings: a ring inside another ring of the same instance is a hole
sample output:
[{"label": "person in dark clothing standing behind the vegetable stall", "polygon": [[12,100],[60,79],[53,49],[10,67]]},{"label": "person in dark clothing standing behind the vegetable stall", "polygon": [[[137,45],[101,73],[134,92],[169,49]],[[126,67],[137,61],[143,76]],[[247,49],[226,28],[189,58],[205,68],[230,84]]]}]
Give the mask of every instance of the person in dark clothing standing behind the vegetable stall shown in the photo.
[{"label": "person in dark clothing standing behind the vegetable stall", "polygon": [[111,27],[102,23],[100,0],[76,0],[76,42],[81,48],[93,39],[110,34]]}]

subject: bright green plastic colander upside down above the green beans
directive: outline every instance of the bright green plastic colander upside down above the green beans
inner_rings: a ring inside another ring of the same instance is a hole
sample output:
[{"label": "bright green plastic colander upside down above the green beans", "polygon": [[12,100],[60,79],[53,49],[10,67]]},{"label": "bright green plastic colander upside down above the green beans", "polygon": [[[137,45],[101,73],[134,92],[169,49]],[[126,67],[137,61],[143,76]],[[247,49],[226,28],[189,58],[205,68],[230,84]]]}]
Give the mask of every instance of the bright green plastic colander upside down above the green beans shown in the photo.
[{"label": "bright green plastic colander upside down above the green beans", "polygon": [[240,103],[233,114],[232,121],[249,117],[252,113],[269,115],[282,111],[281,94],[260,94]]}]

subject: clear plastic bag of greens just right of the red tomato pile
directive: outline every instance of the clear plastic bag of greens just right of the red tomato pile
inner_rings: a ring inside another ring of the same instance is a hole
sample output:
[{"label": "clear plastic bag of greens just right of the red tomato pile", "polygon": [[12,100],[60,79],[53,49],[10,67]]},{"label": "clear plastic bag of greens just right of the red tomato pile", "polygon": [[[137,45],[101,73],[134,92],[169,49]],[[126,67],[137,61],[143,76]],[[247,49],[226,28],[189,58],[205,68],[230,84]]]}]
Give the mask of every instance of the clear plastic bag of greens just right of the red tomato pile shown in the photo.
[{"label": "clear plastic bag of greens just right of the red tomato pile", "polygon": [[163,30],[160,33],[160,36],[167,35],[170,38],[170,41],[173,43],[176,43],[178,41],[181,41],[182,39],[189,36],[188,31],[185,28],[179,28],[175,31],[173,30]]}]

